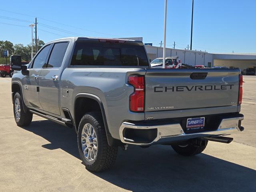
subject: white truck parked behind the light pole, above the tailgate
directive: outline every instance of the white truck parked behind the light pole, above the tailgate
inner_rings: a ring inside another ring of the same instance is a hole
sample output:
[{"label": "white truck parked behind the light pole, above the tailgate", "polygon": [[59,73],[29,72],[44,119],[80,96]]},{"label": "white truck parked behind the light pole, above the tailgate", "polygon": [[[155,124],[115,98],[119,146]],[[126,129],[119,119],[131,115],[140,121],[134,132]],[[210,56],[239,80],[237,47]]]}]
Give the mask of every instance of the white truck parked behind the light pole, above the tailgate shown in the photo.
[{"label": "white truck parked behind the light pole, above the tailgate", "polygon": [[[166,57],[165,68],[179,68],[181,62],[178,57]],[[163,68],[163,58],[156,58],[150,63],[152,68]]]}]

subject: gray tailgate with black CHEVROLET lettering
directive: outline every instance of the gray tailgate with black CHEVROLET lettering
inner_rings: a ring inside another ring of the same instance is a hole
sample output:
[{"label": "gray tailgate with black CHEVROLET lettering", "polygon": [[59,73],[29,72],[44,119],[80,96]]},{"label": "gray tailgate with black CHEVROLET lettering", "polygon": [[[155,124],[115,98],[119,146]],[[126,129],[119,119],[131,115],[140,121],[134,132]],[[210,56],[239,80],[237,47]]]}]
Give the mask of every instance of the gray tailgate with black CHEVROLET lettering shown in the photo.
[{"label": "gray tailgate with black CHEVROLET lettering", "polygon": [[237,106],[239,74],[239,69],[147,69],[145,112]]}]

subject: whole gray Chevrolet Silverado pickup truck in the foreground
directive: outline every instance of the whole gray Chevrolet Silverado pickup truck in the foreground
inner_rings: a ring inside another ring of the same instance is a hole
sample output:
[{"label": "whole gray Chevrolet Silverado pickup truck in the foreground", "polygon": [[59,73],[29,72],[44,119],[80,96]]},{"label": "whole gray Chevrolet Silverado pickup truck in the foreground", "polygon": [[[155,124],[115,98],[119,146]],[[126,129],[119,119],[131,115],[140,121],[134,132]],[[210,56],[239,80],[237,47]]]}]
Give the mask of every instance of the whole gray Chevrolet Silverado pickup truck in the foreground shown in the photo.
[{"label": "whole gray Chevrolet Silverado pickup truck in the foreground", "polygon": [[164,144],[191,156],[244,130],[239,69],[154,69],[140,41],[54,40],[12,70],[16,124],[36,114],[74,128],[94,172],[114,163],[118,146]]}]

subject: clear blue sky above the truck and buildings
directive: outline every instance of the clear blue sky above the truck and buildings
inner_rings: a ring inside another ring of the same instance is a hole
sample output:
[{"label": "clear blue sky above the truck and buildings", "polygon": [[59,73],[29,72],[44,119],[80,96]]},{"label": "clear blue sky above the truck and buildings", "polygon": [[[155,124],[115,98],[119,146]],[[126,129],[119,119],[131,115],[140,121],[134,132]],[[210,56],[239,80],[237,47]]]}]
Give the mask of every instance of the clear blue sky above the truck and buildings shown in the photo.
[{"label": "clear blue sky above the truck and buildings", "polygon": [[[191,9],[192,0],[168,0],[167,47],[174,41],[179,49],[190,44]],[[256,52],[255,11],[255,0],[194,0],[192,49]],[[0,40],[29,44],[28,25],[35,17],[44,42],[68,36],[143,37],[144,43],[160,46],[164,0],[12,0],[6,6],[2,2]]]}]

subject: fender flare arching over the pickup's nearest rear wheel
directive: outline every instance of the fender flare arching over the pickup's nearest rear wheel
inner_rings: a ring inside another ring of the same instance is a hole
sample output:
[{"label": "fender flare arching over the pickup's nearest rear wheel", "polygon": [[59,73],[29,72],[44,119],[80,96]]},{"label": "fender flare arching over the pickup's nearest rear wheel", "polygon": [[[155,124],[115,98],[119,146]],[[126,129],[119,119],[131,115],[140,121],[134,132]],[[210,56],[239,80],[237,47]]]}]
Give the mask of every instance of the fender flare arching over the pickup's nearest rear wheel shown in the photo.
[{"label": "fender flare arching over the pickup's nearest rear wheel", "polygon": [[75,126],[75,130],[76,132],[78,132],[78,127],[76,127],[76,114],[75,114],[75,103],[76,103],[76,99],[77,98],[90,98],[90,99],[93,99],[95,100],[96,102],[98,102],[99,106],[100,106],[100,110],[101,110],[101,114],[102,114],[102,118],[103,118],[103,122],[104,122],[104,126],[105,126],[105,131],[106,131],[106,136],[107,136],[107,140],[108,140],[108,145],[109,146],[114,146],[114,145],[119,145],[118,143],[118,140],[114,139],[110,132],[109,132],[109,129],[108,129],[108,123],[107,123],[107,118],[106,118],[106,114],[105,114],[105,110],[104,110],[104,106],[103,106],[103,103],[102,103],[102,100],[94,95],[94,94],[90,94],[90,93],[78,93],[75,98],[74,98],[74,108],[73,108],[73,114],[74,114],[74,126]]}]

